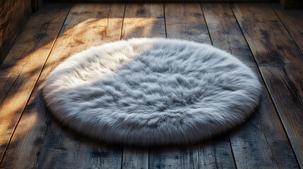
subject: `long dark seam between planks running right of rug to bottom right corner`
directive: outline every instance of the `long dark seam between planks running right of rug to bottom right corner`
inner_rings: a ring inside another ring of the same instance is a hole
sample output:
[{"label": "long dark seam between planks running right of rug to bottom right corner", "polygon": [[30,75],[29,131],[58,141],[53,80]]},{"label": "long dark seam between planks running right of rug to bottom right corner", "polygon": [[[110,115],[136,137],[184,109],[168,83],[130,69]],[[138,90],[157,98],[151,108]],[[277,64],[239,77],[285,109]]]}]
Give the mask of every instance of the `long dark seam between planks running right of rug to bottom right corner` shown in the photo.
[{"label": "long dark seam between planks running right of rug to bottom right corner", "polygon": [[[229,4],[230,4],[230,3],[229,3]],[[234,4],[234,3],[232,3],[232,4]],[[237,21],[237,24],[238,24],[238,26],[239,26],[239,28],[240,28],[240,30],[241,30],[241,32],[242,32],[242,36],[244,37],[246,44],[247,44],[247,46],[249,47],[249,50],[251,51],[252,56],[254,56],[254,54],[252,53],[252,50],[251,50],[251,46],[249,46],[249,43],[247,42],[247,39],[246,39],[246,37],[245,37],[245,35],[244,35],[244,32],[243,32],[243,30],[242,30],[242,27],[240,26],[239,20],[237,19],[236,15],[234,14],[234,9],[232,8],[231,4],[230,4],[230,8],[232,9],[232,14],[234,15],[234,18],[235,18],[236,21]],[[286,129],[285,129],[285,125],[284,125],[284,123],[283,123],[283,120],[282,120],[281,117],[280,117],[280,113],[278,113],[278,108],[277,108],[277,106],[275,105],[275,101],[273,101],[273,96],[271,96],[271,92],[269,92],[268,86],[267,86],[267,84],[266,84],[266,82],[265,82],[265,77],[263,77],[263,74],[261,73],[260,66],[259,66],[258,62],[256,61],[256,57],[255,57],[255,56],[254,56],[254,61],[256,62],[256,65],[257,65],[257,67],[258,67],[259,74],[260,74],[261,77],[262,77],[261,80],[263,81],[263,84],[264,84],[264,87],[265,87],[265,89],[266,89],[266,92],[269,94],[270,99],[271,99],[271,103],[273,104],[273,107],[275,108],[275,112],[276,112],[276,114],[278,115],[278,118],[279,118],[279,120],[280,120],[280,125],[282,125],[283,131],[284,131],[284,133],[285,133],[285,135],[286,135],[286,137],[287,137],[287,141],[288,141],[288,143],[290,144],[290,147],[291,147],[291,149],[292,149],[292,154],[295,155],[297,164],[299,165],[299,159],[298,159],[298,157],[297,157],[297,154],[295,154],[294,147],[292,146],[292,143],[290,142],[290,137],[288,136],[288,133],[286,132]],[[279,67],[280,67],[280,66],[279,66]],[[282,67],[282,66],[281,66],[281,67]],[[283,68],[283,72],[284,72],[284,68]],[[287,78],[289,79],[288,76],[287,76]]]}]

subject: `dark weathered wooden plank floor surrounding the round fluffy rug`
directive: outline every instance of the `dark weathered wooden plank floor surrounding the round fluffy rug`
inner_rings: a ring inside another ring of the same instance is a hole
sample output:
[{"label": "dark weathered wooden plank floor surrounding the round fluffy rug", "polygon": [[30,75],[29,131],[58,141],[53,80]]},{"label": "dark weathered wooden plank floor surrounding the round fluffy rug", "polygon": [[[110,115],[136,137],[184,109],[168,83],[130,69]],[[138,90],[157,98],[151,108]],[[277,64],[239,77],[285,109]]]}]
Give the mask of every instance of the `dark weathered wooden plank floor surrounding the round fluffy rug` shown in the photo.
[{"label": "dark weathered wooden plank floor surrounding the round fluffy rug", "polygon": [[[90,46],[130,37],[213,44],[263,84],[247,123],[183,147],[140,149],[78,136],[54,120],[40,89]],[[0,69],[0,168],[303,168],[303,11],[280,4],[44,4]]]}]

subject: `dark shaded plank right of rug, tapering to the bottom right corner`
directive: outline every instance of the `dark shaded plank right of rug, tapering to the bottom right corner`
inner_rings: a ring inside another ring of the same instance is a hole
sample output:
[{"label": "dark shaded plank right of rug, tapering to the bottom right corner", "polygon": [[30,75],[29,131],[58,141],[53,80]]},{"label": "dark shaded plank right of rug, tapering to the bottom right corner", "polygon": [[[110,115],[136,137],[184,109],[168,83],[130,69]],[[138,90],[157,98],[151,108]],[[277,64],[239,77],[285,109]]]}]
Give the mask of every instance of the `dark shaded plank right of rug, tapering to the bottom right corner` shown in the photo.
[{"label": "dark shaded plank right of rug, tapering to the bottom right corner", "polygon": [[303,106],[280,67],[261,67],[263,78],[279,111],[297,159],[303,166]]}]

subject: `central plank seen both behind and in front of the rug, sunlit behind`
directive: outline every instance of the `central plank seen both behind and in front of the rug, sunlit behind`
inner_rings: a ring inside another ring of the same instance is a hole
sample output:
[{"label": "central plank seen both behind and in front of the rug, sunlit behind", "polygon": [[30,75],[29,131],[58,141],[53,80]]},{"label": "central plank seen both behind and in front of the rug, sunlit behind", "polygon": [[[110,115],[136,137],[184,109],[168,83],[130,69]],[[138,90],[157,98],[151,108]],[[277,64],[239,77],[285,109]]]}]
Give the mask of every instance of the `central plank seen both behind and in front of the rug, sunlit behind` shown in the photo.
[{"label": "central plank seen both behind and in front of the rug, sunlit behind", "polygon": [[[126,4],[121,37],[165,37],[162,4]],[[148,149],[124,147],[122,168],[148,168]]]}]

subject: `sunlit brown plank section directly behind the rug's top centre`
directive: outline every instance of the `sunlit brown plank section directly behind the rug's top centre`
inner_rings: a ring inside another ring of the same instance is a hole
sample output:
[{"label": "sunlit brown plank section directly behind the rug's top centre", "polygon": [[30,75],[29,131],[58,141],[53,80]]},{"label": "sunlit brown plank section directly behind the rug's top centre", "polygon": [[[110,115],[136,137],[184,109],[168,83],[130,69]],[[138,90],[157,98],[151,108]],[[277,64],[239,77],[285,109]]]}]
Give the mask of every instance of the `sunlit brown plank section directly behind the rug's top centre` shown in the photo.
[{"label": "sunlit brown plank section directly behind the rug's top centre", "polygon": [[163,4],[126,4],[121,37],[165,37]]}]

